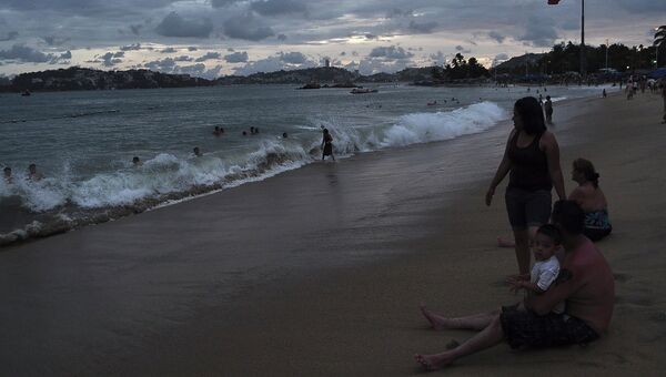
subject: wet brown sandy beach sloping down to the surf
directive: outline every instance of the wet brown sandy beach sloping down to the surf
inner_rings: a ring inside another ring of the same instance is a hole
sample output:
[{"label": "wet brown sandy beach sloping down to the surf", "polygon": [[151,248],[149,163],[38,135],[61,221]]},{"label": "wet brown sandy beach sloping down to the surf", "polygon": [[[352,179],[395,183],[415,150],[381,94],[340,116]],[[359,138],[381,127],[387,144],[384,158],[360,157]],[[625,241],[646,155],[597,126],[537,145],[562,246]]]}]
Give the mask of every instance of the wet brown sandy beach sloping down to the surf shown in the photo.
[{"label": "wet brown sandy beach sloping down to the surf", "polygon": [[[571,162],[593,161],[613,234],[610,329],[587,347],[461,359],[460,376],[638,375],[666,367],[662,99],[555,104]],[[484,193],[509,131],[319,163],[0,252],[0,375],[404,376],[468,332],[451,315],[519,297],[502,195]],[[498,188],[498,193],[503,192]],[[275,253],[279,251],[280,253]],[[440,373],[435,373],[438,375]]]}]

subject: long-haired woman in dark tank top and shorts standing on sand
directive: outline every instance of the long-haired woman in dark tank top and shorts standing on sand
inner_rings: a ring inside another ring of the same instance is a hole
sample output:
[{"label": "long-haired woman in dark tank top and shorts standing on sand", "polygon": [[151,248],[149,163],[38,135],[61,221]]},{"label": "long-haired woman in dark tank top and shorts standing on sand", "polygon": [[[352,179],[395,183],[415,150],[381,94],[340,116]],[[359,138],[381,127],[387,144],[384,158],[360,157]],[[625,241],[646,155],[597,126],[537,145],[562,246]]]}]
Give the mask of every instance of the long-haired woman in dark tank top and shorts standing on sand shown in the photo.
[{"label": "long-haired woman in dark tank top and shorts standing on sand", "polygon": [[546,130],[544,112],[534,96],[525,96],[514,104],[514,129],[504,157],[486,193],[491,205],[495,188],[509,174],[504,194],[506,212],[515,240],[518,273],[529,274],[529,241],[536,230],[551,217],[551,191],[566,198],[559,167],[559,146],[555,135]]}]

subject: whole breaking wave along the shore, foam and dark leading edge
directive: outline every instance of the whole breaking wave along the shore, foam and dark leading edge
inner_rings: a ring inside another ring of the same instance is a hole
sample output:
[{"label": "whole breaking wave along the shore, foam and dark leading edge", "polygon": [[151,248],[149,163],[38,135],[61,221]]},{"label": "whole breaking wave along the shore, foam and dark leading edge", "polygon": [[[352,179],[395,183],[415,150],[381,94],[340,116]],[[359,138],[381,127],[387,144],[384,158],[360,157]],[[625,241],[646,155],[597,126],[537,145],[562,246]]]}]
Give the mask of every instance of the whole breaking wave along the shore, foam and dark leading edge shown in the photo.
[{"label": "whole breaking wave along the shore, foam and dark leading edge", "polygon": [[[321,120],[309,128],[326,126],[334,136],[334,152],[344,157],[483,132],[506,116],[497,104],[481,102],[445,112],[411,113],[392,125],[370,129]],[[8,214],[7,218],[12,214],[19,218],[11,224],[0,222],[0,245],[143,212],[301,167],[320,159],[320,137],[316,131],[304,139],[265,136],[244,153],[228,157],[214,152],[201,157],[161,153],[139,167],[115,162],[124,167],[87,177],[63,166],[64,174],[39,182],[21,174],[11,184],[0,180],[0,210]]]}]

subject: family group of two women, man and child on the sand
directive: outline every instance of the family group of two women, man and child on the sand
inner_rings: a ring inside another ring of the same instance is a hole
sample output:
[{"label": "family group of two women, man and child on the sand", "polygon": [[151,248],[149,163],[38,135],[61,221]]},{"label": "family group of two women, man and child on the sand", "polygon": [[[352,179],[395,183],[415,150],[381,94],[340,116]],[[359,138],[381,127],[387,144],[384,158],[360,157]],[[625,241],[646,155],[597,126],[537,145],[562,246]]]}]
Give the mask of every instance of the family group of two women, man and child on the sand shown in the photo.
[{"label": "family group of two women, man and child on the sand", "polygon": [[[491,205],[497,185],[509,176],[504,197],[513,228],[518,274],[507,277],[525,298],[487,313],[446,317],[421,306],[434,329],[477,334],[452,349],[415,355],[428,370],[506,340],[512,348],[587,344],[608,327],[615,302],[610,267],[593,241],[612,231],[599,175],[584,159],[573,162],[578,186],[566,196],[559,146],[546,128],[539,101],[515,102],[504,155],[485,195]],[[558,201],[552,207],[552,190]],[[531,249],[535,264],[531,268]]]}]

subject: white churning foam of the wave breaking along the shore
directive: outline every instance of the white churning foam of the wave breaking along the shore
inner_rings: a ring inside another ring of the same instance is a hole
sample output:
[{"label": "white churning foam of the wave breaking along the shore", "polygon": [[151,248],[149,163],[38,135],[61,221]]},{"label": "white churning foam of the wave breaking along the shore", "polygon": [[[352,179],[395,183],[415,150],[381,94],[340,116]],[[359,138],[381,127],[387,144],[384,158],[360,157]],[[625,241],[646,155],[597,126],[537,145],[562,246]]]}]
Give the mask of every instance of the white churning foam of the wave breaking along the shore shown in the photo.
[{"label": "white churning foam of the wave breaking along the shore", "polygon": [[[383,129],[355,129],[336,120],[317,120],[316,124],[331,131],[335,154],[344,157],[477,133],[504,118],[506,112],[497,104],[482,102],[448,112],[406,114]],[[58,179],[31,182],[17,176],[14,184],[0,183],[0,197],[18,195],[22,205],[32,212],[49,211],[68,202],[88,210],[130,205],[144,198],[186,193],[195,186],[219,190],[260,181],[319,160],[320,145],[319,133],[301,140],[265,137],[258,139],[252,150],[233,157],[222,159],[213,153],[201,157],[161,153],[142,166],[128,164],[124,169],[85,179],[77,179],[65,163]]]}]

